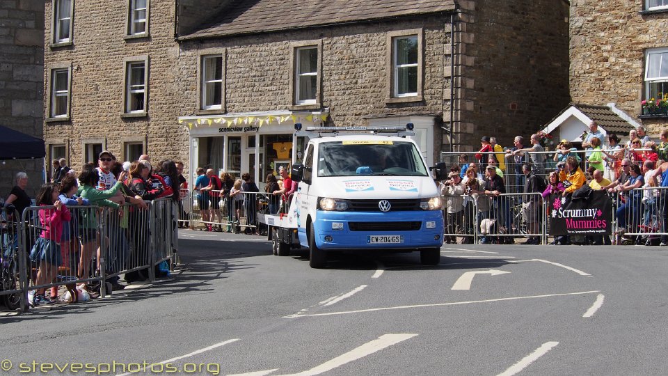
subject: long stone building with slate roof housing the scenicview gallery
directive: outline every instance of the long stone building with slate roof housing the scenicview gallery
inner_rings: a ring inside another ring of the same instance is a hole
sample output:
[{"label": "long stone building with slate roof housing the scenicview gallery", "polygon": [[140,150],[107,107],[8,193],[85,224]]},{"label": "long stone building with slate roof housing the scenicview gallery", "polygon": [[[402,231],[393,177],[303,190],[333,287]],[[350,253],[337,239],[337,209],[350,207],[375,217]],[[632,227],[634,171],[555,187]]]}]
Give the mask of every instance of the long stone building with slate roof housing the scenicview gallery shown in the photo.
[{"label": "long stone building with slate roof housing the scenicview gallery", "polygon": [[108,149],[263,180],[299,159],[294,123],[413,123],[431,164],[569,102],[566,1],[75,1],[47,1],[45,139],[77,168]]}]

